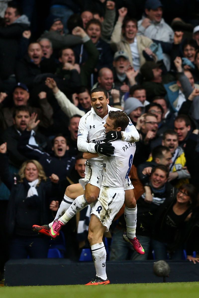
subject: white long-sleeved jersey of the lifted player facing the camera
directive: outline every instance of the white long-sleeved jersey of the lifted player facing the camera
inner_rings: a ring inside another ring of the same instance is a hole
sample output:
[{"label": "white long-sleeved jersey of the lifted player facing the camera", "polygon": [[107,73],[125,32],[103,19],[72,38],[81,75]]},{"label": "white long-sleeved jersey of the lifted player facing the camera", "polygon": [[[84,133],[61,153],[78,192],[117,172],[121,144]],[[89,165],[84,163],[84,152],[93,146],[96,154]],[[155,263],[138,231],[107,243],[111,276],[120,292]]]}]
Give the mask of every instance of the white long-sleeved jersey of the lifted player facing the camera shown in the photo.
[{"label": "white long-sleeved jersey of the lifted player facing the camera", "polygon": [[[120,111],[117,108],[112,108],[109,105],[109,111]],[[106,137],[104,124],[106,123],[106,119],[108,114],[104,116],[104,118],[99,117],[93,108],[91,111],[87,112],[83,117],[81,117],[78,128],[78,139],[77,146],[78,150],[82,152],[90,152],[96,153],[95,145],[103,142],[103,139]],[[129,119],[129,125],[123,131],[122,141],[128,142],[138,142],[139,134],[135,126]],[[92,158],[90,162],[100,161],[102,162],[102,158]]]}]

